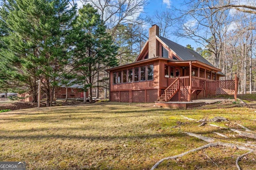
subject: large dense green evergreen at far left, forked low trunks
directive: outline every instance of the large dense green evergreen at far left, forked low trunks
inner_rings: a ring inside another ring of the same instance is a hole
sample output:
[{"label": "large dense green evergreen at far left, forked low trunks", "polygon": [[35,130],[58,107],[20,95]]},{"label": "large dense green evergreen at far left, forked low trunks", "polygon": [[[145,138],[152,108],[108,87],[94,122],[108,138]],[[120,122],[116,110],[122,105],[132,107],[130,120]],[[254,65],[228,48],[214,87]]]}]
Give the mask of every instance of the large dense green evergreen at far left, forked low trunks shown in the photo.
[{"label": "large dense green evergreen at far left, forked low trunks", "polygon": [[[2,22],[8,28],[0,57],[12,67],[12,75],[36,101],[37,80],[42,81],[47,106],[51,106],[58,77],[68,62],[66,36],[76,9],[68,0],[5,0]],[[8,15],[6,15],[6,13]],[[7,16],[7,17],[6,17]]]}]

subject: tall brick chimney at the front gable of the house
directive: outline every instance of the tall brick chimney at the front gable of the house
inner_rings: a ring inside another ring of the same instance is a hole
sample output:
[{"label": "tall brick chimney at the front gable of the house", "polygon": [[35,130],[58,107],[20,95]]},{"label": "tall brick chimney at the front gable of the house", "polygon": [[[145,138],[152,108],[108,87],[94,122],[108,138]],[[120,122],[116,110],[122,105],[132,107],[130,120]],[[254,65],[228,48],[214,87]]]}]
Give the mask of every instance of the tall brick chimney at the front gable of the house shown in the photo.
[{"label": "tall brick chimney at the front gable of the house", "polygon": [[156,35],[159,37],[159,27],[157,25],[152,25],[148,32],[148,58],[159,56],[159,43],[156,40]]}]

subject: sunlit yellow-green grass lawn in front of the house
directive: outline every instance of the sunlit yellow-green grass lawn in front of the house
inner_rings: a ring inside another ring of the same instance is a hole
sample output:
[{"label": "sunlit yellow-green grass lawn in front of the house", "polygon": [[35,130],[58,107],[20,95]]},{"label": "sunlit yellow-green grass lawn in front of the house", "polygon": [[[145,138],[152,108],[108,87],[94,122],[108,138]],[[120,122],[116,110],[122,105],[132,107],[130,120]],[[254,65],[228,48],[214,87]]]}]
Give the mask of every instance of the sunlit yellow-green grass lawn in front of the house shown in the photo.
[{"label": "sunlit yellow-green grass lawn in front of the house", "polygon": [[[209,110],[170,110],[154,104],[118,102],[34,108],[0,113],[0,161],[26,161],[27,169],[150,169],[158,160],[207,144],[184,132],[248,142],[236,133],[183,119],[222,116],[256,131],[255,109],[233,107]],[[185,123],[181,127],[177,121]],[[227,123],[215,123],[226,126]],[[234,125],[235,126],[235,125]],[[223,139],[224,140],[224,139]],[[216,147],[167,160],[158,169],[232,170],[236,158],[247,151]],[[210,157],[212,160],[210,160]],[[214,161],[218,166],[216,166]],[[239,162],[256,169],[255,153]]]}]

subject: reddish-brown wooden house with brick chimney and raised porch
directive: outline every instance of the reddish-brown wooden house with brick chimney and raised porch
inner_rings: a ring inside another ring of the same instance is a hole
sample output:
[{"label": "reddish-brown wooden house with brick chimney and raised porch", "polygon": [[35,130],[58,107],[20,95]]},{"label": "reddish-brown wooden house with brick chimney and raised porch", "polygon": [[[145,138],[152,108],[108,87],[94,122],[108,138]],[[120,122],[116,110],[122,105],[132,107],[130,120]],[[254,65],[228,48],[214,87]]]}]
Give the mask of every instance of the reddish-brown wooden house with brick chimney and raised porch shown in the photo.
[{"label": "reddish-brown wooden house with brick chimney and raised porch", "polygon": [[[115,102],[186,102],[213,92],[234,92],[233,81],[220,83],[224,74],[219,68],[195,51],[160,37],[157,25],[150,27],[149,39],[134,63],[106,71],[110,101]],[[227,88],[230,84],[232,89]]]}]

